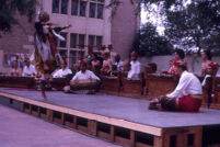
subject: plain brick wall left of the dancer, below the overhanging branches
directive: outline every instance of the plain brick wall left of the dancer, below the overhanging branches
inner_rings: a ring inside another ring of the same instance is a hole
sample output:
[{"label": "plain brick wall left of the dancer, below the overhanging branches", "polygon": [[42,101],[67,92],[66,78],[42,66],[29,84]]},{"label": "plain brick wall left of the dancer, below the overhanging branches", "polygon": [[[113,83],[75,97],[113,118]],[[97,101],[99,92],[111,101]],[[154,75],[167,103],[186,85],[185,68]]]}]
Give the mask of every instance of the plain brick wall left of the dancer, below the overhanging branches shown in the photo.
[{"label": "plain brick wall left of the dancer, below the overhanging branches", "polygon": [[31,54],[34,49],[34,20],[28,22],[24,15],[16,15],[20,25],[0,37],[0,72],[8,74],[15,56]]}]

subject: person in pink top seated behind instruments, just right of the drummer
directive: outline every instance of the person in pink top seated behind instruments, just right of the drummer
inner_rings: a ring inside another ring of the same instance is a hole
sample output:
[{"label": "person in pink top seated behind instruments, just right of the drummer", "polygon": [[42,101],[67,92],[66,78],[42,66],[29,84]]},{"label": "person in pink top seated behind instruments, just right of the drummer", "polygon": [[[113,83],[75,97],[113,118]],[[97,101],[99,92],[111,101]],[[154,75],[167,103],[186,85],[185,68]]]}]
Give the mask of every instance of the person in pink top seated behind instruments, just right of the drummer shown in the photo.
[{"label": "person in pink top seated behind instruments, just right of the drummer", "polygon": [[109,76],[113,70],[112,60],[109,58],[109,52],[104,52],[103,58],[104,58],[104,60],[103,60],[103,66],[102,66],[101,72],[104,76]]}]

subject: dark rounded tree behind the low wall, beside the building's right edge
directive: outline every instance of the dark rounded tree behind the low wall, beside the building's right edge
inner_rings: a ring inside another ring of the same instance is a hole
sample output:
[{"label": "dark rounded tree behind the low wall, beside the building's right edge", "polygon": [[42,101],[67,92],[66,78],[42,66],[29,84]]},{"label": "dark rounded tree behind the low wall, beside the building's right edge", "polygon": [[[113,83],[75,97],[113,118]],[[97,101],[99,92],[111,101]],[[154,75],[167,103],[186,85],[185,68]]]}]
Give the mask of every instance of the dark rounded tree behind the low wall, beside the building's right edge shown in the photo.
[{"label": "dark rounded tree behind the low wall, beside the building's right edge", "polygon": [[140,29],[134,48],[140,56],[169,55],[173,50],[170,42],[164,36],[160,36],[151,23]]}]

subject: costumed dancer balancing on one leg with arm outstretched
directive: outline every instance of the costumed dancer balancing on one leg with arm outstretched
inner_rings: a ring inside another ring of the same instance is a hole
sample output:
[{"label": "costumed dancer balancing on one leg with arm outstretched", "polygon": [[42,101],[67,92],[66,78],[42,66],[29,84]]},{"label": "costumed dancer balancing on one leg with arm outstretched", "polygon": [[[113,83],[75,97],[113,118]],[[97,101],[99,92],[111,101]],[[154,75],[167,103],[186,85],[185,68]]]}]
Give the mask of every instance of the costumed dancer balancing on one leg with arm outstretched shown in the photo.
[{"label": "costumed dancer balancing on one leg with arm outstretched", "polygon": [[[65,38],[57,34],[55,31],[61,31],[68,29],[71,25],[65,27],[54,27],[51,23],[48,23],[49,15],[46,12],[39,14],[39,22],[35,23],[35,52],[34,61],[37,70],[38,79],[42,79],[42,84],[48,83],[50,74],[60,65],[61,57],[56,47],[54,36],[63,41]],[[45,87],[45,86],[43,86]],[[42,95],[46,99],[45,88],[42,89]]]}]

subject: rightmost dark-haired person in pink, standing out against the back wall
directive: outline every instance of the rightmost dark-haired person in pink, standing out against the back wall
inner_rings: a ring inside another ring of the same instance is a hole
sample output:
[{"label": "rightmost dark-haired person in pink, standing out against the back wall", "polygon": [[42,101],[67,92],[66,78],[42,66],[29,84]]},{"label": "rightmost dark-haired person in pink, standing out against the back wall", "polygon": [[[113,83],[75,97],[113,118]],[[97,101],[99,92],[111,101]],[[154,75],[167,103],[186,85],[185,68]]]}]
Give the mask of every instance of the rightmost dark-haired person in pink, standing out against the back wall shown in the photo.
[{"label": "rightmost dark-haired person in pink, standing out against the back wall", "polygon": [[201,50],[201,77],[205,77],[209,70],[209,64],[211,63],[211,52]]}]

